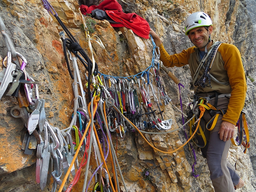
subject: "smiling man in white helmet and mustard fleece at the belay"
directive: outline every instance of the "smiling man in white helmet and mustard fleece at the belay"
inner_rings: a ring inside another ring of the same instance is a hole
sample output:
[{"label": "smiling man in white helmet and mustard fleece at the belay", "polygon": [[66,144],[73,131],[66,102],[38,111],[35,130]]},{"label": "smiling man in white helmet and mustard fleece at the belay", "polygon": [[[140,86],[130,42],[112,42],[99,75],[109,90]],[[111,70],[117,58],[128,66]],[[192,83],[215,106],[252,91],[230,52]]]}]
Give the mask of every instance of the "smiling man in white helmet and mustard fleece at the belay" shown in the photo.
[{"label": "smiling man in white helmet and mustard fleece at the belay", "polygon": [[[160,60],[164,66],[189,65],[194,98],[206,97],[212,106],[224,111],[211,131],[204,128],[216,113],[205,111],[200,125],[205,130],[207,143],[203,144],[201,151],[207,157],[214,190],[232,192],[244,185],[227,161],[227,155],[230,139],[234,136],[235,125],[244,106],[246,80],[239,50],[234,45],[211,40],[212,31],[212,21],[206,13],[189,15],[185,21],[185,34],[195,46],[174,55],[166,52],[153,30],[150,30],[150,34],[160,48]],[[202,144],[202,137],[197,138],[198,144]]]}]

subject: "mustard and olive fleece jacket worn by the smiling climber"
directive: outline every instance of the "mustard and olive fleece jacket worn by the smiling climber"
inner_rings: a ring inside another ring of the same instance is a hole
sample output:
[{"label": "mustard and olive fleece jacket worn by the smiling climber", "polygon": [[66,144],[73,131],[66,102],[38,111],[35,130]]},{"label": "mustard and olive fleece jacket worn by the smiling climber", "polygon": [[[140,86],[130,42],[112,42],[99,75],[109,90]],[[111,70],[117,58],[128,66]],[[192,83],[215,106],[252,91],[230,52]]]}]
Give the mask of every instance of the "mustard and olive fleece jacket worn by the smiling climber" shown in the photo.
[{"label": "mustard and olive fleece jacket worn by the smiling climber", "polygon": [[[163,62],[164,66],[182,67],[189,65],[191,76],[194,76],[200,63],[198,48],[193,46],[187,50],[183,50],[181,53],[173,55],[169,55],[166,52],[163,44],[161,44],[159,48],[160,60]],[[211,48],[209,48],[208,51]],[[200,71],[198,77],[201,77],[202,74],[203,70]],[[236,125],[244,106],[247,90],[245,72],[238,48],[231,44],[222,43],[216,53],[210,74],[217,81],[211,79],[211,87],[209,85],[205,86],[205,88],[199,87],[195,89],[195,92],[207,93],[217,91],[219,93],[230,93],[228,110],[225,115],[223,115],[222,120]],[[220,84],[218,81],[224,84]],[[225,82],[229,82],[228,85],[225,84]],[[206,82],[206,84],[207,83],[208,82]]]}]

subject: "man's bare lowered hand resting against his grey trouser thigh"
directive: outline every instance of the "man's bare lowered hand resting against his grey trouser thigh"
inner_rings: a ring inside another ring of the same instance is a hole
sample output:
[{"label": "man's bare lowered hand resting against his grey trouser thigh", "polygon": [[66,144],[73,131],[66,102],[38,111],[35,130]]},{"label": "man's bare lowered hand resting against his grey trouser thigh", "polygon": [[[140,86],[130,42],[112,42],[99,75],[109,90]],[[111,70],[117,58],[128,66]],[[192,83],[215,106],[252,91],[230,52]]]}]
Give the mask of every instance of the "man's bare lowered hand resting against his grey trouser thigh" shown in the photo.
[{"label": "man's bare lowered hand resting against his grey trouser thigh", "polygon": [[220,140],[227,141],[234,137],[235,133],[235,125],[228,122],[228,121],[222,121],[220,124]]}]

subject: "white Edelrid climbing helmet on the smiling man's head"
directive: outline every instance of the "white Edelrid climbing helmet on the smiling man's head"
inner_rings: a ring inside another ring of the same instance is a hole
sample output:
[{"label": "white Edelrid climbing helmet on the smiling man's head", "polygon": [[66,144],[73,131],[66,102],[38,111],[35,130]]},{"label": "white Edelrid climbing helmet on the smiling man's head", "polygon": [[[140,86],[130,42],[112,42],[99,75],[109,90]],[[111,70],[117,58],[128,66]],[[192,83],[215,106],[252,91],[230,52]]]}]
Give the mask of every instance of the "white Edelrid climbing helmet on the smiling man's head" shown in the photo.
[{"label": "white Edelrid climbing helmet on the smiling man's head", "polygon": [[185,21],[185,35],[188,35],[188,32],[193,28],[210,25],[212,25],[212,20],[209,15],[204,12],[192,13]]}]

